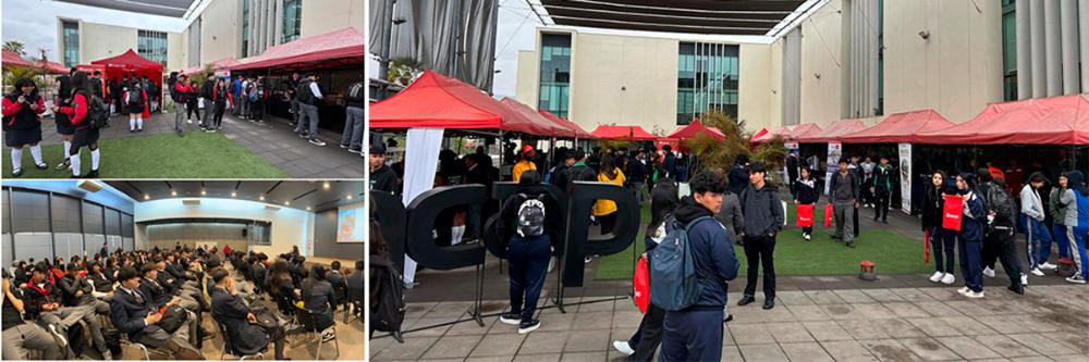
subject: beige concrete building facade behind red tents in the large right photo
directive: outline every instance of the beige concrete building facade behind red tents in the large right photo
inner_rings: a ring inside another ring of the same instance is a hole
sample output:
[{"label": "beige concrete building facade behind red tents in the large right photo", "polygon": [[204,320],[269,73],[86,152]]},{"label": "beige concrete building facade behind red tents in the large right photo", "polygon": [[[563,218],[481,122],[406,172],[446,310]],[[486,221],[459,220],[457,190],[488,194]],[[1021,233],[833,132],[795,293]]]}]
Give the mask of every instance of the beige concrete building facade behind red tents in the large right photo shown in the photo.
[{"label": "beige concrete building facade behind red tents in the large right photo", "polygon": [[[975,116],[988,103],[1016,99],[1010,97],[1011,92],[1017,95],[1024,90],[1028,80],[1017,78],[1016,74],[1028,71],[1024,62],[1017,61],[1038,52],[1015,49],[1025,46],[1013,41],[1014,33],[1023,36],[1020,28],[1012,30],[1014,17],[1023,21],[1023,3],[1033,2],[1017,1],[1015,15],[1013,0],[830,0],[778,38],[739,41],[705,41],[698,40],[698,36],[686,39],[685,36],[586,34],[590,30],[541,27],[537,30],[535,50],[518,54],[516,98],[536,108],[553,110],[540,95],[542,74],[546,77],[550,74],[547,70],[542,72],[542,59],[548,55],[542,39],[559,33],[571,38],[567,117],[588,129],[615,123],[669,133],[684,124],[685,120],[677,115],[684,113],[678,108],[686,103],[683,91],[678,91],[678,85],[685,82],[684,57],[680,53],[686,43],[693,42],[722,43],[736,49],[736,64],[731,66],[738,72],[727,74],[737,77],[731,79],[736,82],[736,99],[725,102],[730,104],[724,110],[744,121],[748,130],[798,123],[827,125],[843,118],[862,118],[873,124],[889,114],[923,109],[934,109],[959,123]],[[1089,11],[1089,4],[1080,10]],[[1052,64],[1040,72],[1047,75],[1048,68],[1054,68],[1050,77],[1059,79],[1057,83],[1052,79],[1057,89],[1045,89],[1055,90],[1054,95],[1080,91],[1080,87],[1064,87],[1063,79],[1080,79],[1089,72],[1064,77],[1079,67],[1068,61],[1063,67],[1062,60],[1080,57],[1086,47],[1079,48],[1077,41],[1070,46],[1069,35],[1072,29],[1080,32],[1081,25],[1089,28],[1089,24],[1063,23],[1059,15],[1070,17],[1064,11],[1052,15],[1054,22],[1063,24],[1052,35],[1065,46],[1055,50],[1059,57],[1053,57],[1053,61],[1060,60],[1060,65]],[[1043,18],[1041,24],[1051,17]],[[1063,29],[1067,38],[1062,38]],[[1040,37],[1048,39],[1044,33]],[[1080,38],[1089,41],[1089,36]],[[1031,45],[1037,46],[1037,41]],[[709,66],[713,70],[717,65]],[[719,75],[702,70],[696,73],[697,78]],[[1037,80],[1035,68],[1031,74],[1031,80]],[[718,86],[714,82],[709,85]],[[1011,89],[1012,86],[1015,88]],[[698,84],[696,88],[700,88]],[[1032,90],[1035,97],[1052,95],[1048,91],[1036,95],[1035,87]],[[723,104],[696,102],[693,113]]]}]

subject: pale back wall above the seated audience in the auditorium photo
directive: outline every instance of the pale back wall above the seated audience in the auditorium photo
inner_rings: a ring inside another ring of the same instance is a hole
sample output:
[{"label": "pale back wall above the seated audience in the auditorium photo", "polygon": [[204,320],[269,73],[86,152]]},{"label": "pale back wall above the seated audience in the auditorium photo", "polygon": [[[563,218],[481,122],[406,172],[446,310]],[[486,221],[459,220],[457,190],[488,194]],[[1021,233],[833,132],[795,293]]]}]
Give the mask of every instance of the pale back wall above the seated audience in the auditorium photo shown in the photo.
[{"label": "pale back wall above the seated audience in the auditorium photo", "polygon": [[[200,204],[186,207],[182,199],[163,199],[137,202],[134,221],[140,222],[178,217],[229,217],[259,220],[272,223],[271,246],[255,246],[254,251],[270,255],[290,252],[292,246],[305,252],[314,242],[314,213],[298,209],[280,208],[279,211],[265,209],[265,203],[232,199],[199,199]],[[144,248],[147,242],[147,226],[137,226],[136,245]]]}]

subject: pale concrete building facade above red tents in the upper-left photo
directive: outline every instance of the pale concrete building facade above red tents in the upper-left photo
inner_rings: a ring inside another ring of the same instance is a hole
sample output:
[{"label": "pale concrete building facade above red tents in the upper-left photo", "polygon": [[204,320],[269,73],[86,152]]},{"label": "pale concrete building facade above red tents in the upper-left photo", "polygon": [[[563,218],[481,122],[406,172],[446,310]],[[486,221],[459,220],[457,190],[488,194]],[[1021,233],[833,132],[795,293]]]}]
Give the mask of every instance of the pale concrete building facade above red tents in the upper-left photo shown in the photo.
[{"label": "pale concrete building facade above red tents in the upper-left photo", "polygon": [[[58,17],[57,49],[60,61],[65,65],[86,64],[133,49],[145,58],[162,62],[167,71],[178,71],[224,58],[257,55],[280,43],[350,26],[363,34],[364,2],[212,0],[199,14],[192,16],[182,32],[149,32]],[[152,59],[149,51],[140,50],[140,35],[144,36],[143,41],[156,47],[158,43],[148,38],[163,36],[164,49],[156,51],[166,55]]]}]

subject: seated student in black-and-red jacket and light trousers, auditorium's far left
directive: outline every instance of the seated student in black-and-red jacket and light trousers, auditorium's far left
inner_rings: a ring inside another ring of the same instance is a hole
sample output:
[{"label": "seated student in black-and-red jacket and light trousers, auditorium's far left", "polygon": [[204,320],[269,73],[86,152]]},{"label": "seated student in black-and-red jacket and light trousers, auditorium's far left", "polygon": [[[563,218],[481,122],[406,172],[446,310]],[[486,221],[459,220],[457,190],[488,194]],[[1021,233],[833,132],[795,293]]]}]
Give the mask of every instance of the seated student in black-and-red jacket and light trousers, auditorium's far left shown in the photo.
[{"label": "seated student in black-and-red jacket and light trousers, auditorium's far left", "polygon": [[56,285],[46,279],[46,273],[48,272],[41,264],[34,267],[30,282],[23,289],[23,301],[26,302],[24,309],[27,320],[40,319],[47,326],[54,328],[50,332],[59,334],[79,322],[83,310],[61,307],[54,299],[58,296]]}]

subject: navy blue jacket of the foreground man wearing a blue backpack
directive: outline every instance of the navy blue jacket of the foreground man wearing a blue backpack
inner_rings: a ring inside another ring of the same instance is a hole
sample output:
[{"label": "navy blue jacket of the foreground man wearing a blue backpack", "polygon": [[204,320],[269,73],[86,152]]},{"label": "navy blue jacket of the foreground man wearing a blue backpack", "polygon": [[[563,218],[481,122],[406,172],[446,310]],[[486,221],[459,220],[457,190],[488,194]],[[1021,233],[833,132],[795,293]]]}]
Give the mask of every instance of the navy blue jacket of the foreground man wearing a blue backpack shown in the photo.
[{"label": "navy blue jacket of the foreground man wearing a blue backpack", "polygon": [[[685,198],[674,212],[677,223],[687,225],[700,216],[711,216],[702,205]],[[734,242],[726,237],[726,230],[714,219],[701,221],[688,229],[692,255],[696,274],[702,285],[699,300],[688,310],[721,310],[726,305],[727,280],[737,277],[737,258]]]}]

